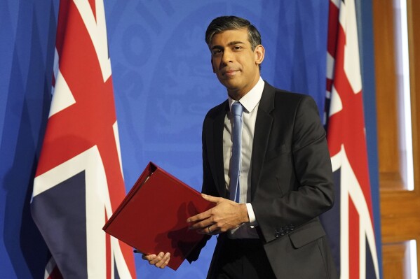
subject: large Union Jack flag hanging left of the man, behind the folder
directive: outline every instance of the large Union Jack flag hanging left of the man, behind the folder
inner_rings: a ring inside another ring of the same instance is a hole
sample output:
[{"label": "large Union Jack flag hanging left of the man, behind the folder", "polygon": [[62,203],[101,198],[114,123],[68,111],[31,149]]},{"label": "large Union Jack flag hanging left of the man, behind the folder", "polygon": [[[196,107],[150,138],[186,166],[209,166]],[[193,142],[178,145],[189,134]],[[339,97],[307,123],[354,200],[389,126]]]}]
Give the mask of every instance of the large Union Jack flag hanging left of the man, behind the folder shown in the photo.
[{"label": "large Union Jack flag hanging left of the man, behind the folder", "polygon": [[126,195],[102,0],[61,0],[53,99],[31,210],[45,278],[135,278],[133,251],[102,231]]}]

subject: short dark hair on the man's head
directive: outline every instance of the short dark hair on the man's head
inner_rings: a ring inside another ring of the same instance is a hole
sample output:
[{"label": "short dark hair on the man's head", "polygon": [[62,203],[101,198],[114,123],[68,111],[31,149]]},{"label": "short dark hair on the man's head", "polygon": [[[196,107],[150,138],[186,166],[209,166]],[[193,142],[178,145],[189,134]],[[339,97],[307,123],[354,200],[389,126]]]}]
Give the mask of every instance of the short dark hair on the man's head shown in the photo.
[{"label": "short dark hair on the man's head", "polygon": [[259,31],[248,20],[233,15],[216,17],[212,20],[205,31],[205,43],[210,47],[210,43],[215,34],[222,33],[226,30],[237,30],[242,28],[248,29],[248,41],[250,41],[251,49],[255,50],[257,45],[261,45],[261,35],[259,34]]}]

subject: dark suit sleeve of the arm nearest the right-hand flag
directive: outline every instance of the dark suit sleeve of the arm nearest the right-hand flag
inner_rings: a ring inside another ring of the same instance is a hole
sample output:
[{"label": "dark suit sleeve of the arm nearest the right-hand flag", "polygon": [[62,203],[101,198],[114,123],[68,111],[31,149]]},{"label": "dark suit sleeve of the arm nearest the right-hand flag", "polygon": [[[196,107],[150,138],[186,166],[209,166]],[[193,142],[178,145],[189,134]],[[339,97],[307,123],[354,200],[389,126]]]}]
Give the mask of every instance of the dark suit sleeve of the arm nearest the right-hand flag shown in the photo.
[{"label": "dark suit sleeve of the arm nearest the right-hand flag", "polygon": [[[290,128],[280,133],[286,134],[285,138],[274,141],[283,141],[280,144],[286,148],[278,157],[264,162],[252,201],[266,242],[276,239],[275,232],[280,228],[299,228],[334,203],[330,154],[315,101],[302,96],[294,108],[285,110],[287,115],[283,117],[288,117]],[[276,128],[274,124],[272,129]]]}]

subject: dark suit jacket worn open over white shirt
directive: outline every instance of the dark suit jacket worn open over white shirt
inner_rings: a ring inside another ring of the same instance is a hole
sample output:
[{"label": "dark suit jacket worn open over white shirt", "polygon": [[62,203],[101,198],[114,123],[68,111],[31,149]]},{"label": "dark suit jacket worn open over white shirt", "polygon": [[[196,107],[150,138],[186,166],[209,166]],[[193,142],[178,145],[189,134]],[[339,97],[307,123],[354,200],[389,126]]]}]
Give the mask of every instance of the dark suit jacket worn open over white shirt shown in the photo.
[{"label": "dark suit jacket worn open over white shirt", "polygon": [[[228,101],[212,108],[203,123],[203,189],[229,199],[224,182],[223,125]],[[251,161],[251,204],[257,231],[277,278],[337,278],[318,216],[334,203],[325,129],[311,96],[264,85]],[[337,224],[338,226],[339,224]],[[218,269],[221,234],[208,278]],[[205,243],[202,243],[201,247]],[[201,247],[191,253],[198,257]]]}]

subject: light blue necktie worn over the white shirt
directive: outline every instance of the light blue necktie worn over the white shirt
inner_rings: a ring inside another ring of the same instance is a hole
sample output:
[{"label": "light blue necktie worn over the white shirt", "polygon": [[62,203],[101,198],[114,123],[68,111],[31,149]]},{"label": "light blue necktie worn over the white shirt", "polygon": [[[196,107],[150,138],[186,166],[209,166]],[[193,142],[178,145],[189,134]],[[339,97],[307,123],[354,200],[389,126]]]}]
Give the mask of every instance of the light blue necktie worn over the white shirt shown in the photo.
[{"label": "light blue necktie worn over the white shirt", "polygon": [[233,129],[232,129],[232,158],[231,158],[231,180],[229,182],[229,192],[232,201],[239,202],[239,172],[241,171],[241,131],[242,131],[242,112],[243,106],[238,101],[232,104]]}]

